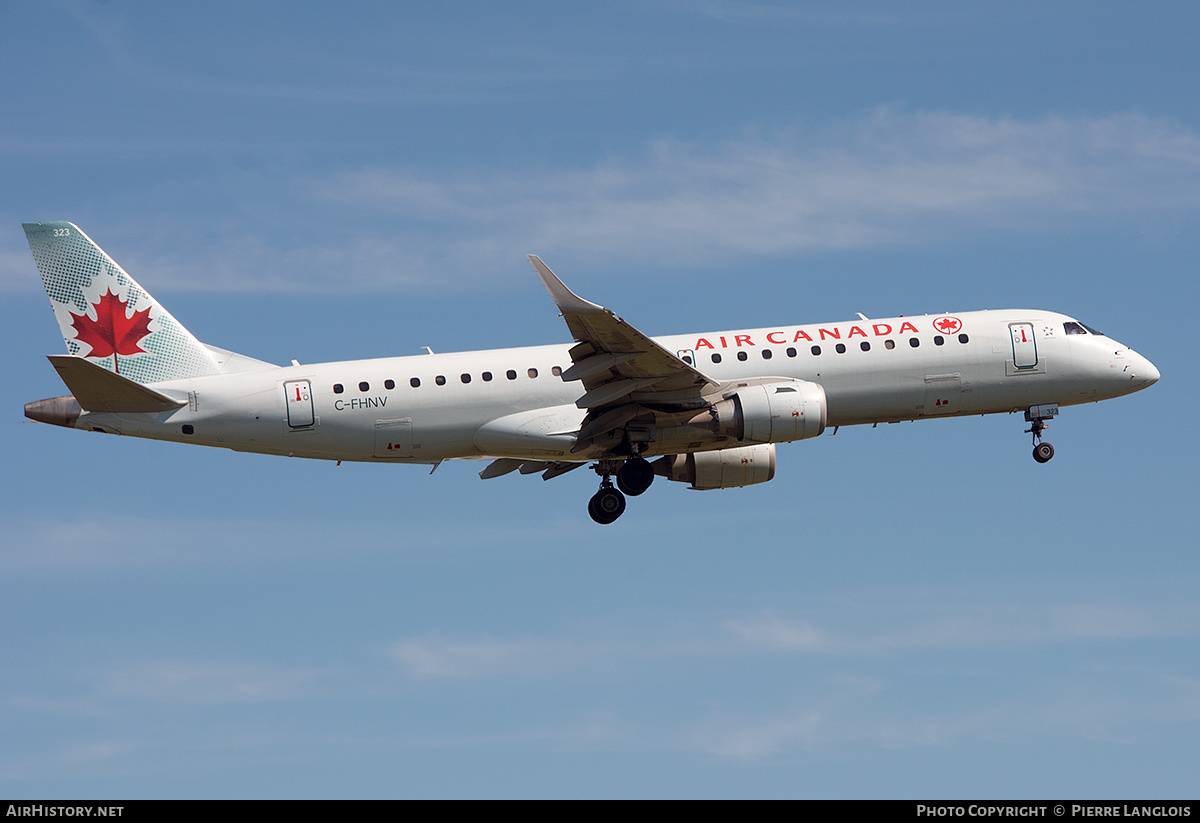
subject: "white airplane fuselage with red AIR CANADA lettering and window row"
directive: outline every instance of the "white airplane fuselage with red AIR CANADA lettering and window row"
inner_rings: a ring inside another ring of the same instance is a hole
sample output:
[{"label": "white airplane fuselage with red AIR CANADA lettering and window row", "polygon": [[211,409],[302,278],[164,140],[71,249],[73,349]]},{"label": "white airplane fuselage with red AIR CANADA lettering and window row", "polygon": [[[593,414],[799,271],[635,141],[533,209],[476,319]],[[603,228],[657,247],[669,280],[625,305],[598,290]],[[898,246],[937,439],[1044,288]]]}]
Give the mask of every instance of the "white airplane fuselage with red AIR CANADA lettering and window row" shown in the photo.
[{"label": "white airplane fuselage with red AIR CANADA lettering and window row", "polygon": [[[716,382],[776,377],[823,386],[828,425],[992,414],[1126,395],[1158,372],[1098,334],[1067,334],[1044,311],[848,320],[671,336],[656,342]],[[1072,323],[1072,325],[1074,325]],[[916,341],[916,344],[913,342]],[[168,380],[186,404],[151,414],[83,413],[78,428],[346,461],[462,457],[589,459],[571,453],[586,410],[569,346],[271,367]],[[816,353],[816,352],[820,353]],[[679,426],[646,455],[732,445]]]}]

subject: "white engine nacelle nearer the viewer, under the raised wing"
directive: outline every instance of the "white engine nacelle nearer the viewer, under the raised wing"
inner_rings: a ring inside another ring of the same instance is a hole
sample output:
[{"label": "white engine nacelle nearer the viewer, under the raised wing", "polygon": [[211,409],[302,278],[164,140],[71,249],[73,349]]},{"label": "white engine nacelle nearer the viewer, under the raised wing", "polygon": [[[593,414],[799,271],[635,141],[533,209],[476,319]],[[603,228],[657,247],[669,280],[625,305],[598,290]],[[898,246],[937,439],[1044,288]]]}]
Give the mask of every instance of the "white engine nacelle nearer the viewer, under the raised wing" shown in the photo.
[{"label": "white engine nacelle nearer the viewer, under the raised wing", "polygon": [[791,443],[816,437],[827,419],[820,384],[780,380],[738,389],[688,422],[742,443]]}]

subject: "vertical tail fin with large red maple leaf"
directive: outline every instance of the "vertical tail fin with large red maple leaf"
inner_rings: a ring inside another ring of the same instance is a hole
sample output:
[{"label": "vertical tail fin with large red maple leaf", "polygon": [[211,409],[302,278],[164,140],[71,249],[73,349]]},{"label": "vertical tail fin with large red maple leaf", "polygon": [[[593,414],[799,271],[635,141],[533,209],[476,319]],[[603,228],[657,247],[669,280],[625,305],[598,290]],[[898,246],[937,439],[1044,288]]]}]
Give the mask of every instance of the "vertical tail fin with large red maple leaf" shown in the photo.
[{"label": "vertical tail fin with large red maple leaf", "polygon": [[138,384],[223,371],[217,353],[180,325],[78,226],[24,223],[24,229],[72,355]]}]

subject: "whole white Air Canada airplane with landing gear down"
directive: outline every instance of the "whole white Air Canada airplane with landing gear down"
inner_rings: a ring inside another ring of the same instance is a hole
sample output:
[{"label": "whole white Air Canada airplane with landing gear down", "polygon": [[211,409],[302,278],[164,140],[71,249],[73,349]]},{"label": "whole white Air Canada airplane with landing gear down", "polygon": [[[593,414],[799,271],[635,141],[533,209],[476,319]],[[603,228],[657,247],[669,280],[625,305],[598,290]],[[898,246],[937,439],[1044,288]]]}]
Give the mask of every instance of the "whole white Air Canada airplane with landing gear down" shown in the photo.
[{"label": "whole white Air Canada airplane with landing gear down", "polygon": [[574,346],[277,366],[199,342],[73,223],[24,229],[67,347],[48,359],[71,390],[28,403],[31,420],[329,461],[490,458],[485,480],[592,464],[601,524],[655,477],[767,482],[776,444],[829,427],[1024,412],[1045,463],[1060,407],[1159,377],[1111,337],[1037,310],[650,338],[533,254]]}]

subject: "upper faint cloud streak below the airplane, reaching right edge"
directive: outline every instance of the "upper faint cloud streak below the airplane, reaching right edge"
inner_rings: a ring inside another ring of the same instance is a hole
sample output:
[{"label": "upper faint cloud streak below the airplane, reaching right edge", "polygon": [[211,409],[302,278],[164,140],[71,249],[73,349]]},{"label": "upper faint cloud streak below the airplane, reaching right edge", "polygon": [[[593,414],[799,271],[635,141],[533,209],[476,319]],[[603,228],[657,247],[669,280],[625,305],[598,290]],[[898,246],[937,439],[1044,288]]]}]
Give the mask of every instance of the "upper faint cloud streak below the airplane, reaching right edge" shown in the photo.
[{"label": "upper faint cloud streak below the airplane, reaching right edge", "polygon": [[582,671],[620,678],[670,660],[823,655],[874,661],[928,650],[1014,654],[1056,644],[1187,637],[1200,625],[1200,609],[1177,605],[935,601],[912,606],[904,601],[899,595],[878,608],[826,608],[820,618],[767,612],[685,626],[612,627],[601,633],[431,635],[398,639],[385,654],[415,678],[574,677]]}]

